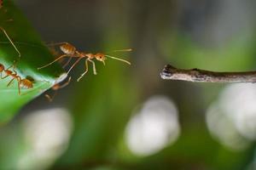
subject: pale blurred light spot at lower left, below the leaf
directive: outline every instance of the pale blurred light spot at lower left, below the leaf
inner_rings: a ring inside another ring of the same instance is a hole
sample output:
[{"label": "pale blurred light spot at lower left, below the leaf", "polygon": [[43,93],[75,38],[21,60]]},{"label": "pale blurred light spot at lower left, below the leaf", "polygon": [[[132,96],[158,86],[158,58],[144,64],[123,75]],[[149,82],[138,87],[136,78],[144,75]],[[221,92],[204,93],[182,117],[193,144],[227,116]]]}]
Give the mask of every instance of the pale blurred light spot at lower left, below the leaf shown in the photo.
[{"label": "pale blurred light spot at lower left, below the leaf", "polygon": [[26,116],[23,132],[28,147],[20,156],[18,167],[49,167],[67,149],[72,129],[72,118],[65,109],[35,111]]}]

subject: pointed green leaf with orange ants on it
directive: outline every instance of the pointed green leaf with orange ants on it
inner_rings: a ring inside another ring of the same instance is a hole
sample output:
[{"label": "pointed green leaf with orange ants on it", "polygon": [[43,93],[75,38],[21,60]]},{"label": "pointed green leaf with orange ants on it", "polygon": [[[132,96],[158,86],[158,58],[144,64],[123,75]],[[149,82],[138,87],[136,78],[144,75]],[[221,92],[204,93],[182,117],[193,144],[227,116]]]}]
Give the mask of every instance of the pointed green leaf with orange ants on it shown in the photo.
[{"label": "pointed green leaf with orange ants on it", "polygon": [[[33,30],[12,1],[3,1],[3,8],[0,8],[0,26],[7,32],[21,54],[19,57],[8,37],[3,31],[0,31],[0,64],[5,68],[15,65],[15,71],[21,78],[32,77],[34,80],[33,88],[20,88],[21,94],[19,95],[16,80],[7,87],[11,77],[0,79],[1,124],[9,121],[28,101],[44,93],[55,83],[61,82],[67,77],[67,74],[58,64],[38,70],[38,67],[48,64],[54,58],[41,41],[38,33]],[[9,70],[13,71],[13,68]]]}]

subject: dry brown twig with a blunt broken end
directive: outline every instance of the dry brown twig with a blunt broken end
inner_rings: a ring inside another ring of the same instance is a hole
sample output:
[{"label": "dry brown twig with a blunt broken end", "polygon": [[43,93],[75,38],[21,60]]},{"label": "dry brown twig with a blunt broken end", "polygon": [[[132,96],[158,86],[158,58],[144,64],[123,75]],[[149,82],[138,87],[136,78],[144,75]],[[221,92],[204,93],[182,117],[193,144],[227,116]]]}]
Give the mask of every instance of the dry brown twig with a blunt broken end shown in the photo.
[{"label": "dry brown twig with a blunt broken end", "polygon": [[256,71],[215,72],[200,69],[177,69],[166,65],[160,73],[162,79],[189,82],[256,82]]}]

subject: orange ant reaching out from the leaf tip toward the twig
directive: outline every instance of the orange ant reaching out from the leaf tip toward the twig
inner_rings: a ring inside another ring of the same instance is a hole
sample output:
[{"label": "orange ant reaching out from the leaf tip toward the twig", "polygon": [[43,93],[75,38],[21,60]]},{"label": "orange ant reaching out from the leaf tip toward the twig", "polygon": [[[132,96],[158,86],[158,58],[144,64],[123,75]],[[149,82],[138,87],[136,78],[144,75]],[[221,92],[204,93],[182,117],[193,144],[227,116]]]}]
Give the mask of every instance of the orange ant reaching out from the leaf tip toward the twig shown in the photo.
[{"label": "orange ant reaching out from the leaf tip toward the twig", "polygon": [[[93,73],[96,75],[96,65],[95,62],[93,61],[93,59],[99,60],[103,63],[103,65],[105,65],[105,59],[107,58],[111,58],[111,59],[117,59],[120,61],[123,61],[125,63],[127,63],[128,65],[131,65],[131,63],[125,59],[119,59],[113,56],[110,56],[108,54],[102,54],[102,53],[97,53],[97,54],[91,54],[91,53],[83,53],[83,52],[79,52],[72,44],[68,43],[68,42],[60,42],[60,43],[55,43],[54,45],[60,45],[60,49],[61,51],[64,53],[62,54],[60,57],[58,57],[57,59],[55,59],[54,61],[50,62],[48,65],[44,65],[42,67],[39,67],[39,69],[43,69],[44,67],[47,67],[49,65],[52,65],[53,63],[55,63],[55,61],[59,60],[59,59],[63,59],[64,57],[70,57],[67,60],[67,63],[64,65],[64,67],[70,62],[71,59],[73,58],[78,58],[74,64],[69,68],[69,70],[67,71],[67,74],[73,69],[73,67],[75,65],[77,65],[80,61],[80,59],[85,59],[85,71],[84,73],[78,78],[78,82],[80,81],[80,79],[82,77],[84,77],[84,75],[87,73],[88,71],[88,61],[90,63],[92,63],[93,65]],[[131,51],[131,49],[123,49],[123,50],[115,50],[114,52],[117,51]]]}]

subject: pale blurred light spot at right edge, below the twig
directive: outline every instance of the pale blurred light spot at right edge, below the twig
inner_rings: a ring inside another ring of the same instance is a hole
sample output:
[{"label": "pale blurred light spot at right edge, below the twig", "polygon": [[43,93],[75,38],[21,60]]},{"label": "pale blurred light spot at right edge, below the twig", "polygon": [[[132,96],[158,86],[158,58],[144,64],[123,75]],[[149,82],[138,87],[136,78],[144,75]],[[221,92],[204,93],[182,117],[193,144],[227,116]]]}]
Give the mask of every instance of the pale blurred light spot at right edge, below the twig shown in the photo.
[{"label": "pale blurred light spot at right edge, below the twig", "polygon": [[207,111],[212,136],[233,150],[246,149],[256,139],[256,86],[231,84]]}]

